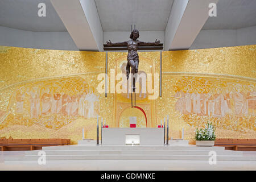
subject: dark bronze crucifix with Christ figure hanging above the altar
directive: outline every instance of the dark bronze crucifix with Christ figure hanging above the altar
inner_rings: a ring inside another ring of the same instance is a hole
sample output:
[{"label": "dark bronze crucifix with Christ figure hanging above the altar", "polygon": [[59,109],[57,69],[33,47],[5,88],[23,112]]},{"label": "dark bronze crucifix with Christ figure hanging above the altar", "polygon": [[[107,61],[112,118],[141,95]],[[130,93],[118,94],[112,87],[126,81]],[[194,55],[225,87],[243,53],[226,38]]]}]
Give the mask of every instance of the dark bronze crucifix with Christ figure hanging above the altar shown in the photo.
[{"label": "dark bronze crucifix with Christ figure hanging above the altar", "polygon": [[[138,50],[162,50],[163,44],[160,40],[155,42],[142,42],[138,40],[139,31],[134,29],[131,31],[130,40],[125,42],[112,43],[110,40],[104,44],[104,51],[120,51],[128,50],[127,64],[126,64],[126,78],[129,79],[131,73],[131,107],[133,108],[133,92],[134,92],[134,107],[136,107],[135,82],[137,80],[139,69],[139,55]],[[131,69],[131,70],[130,70]]]}]

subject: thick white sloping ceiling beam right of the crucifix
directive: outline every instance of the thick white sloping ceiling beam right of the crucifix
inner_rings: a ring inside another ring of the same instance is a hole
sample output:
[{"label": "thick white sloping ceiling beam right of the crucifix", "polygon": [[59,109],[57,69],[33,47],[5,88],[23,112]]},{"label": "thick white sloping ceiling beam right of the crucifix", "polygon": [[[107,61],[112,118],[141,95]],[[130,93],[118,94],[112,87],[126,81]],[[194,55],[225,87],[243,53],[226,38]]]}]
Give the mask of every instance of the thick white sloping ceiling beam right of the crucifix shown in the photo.
[{"label": "thick white sloping ceiling beam right of the crucifix", "polygon": [[208,19],[209,3],[218,0],[175,0],[165,30],[165,48],[189,49]]}]

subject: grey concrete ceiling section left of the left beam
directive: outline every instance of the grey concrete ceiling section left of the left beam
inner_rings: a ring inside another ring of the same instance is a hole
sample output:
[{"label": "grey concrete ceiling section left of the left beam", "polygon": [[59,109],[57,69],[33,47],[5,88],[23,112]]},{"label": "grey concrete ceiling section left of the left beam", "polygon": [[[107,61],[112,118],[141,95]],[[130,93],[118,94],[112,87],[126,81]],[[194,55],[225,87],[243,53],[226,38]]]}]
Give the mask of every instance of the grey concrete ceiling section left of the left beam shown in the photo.
[{"label": "grey concrete ceiling section left of the left beam", "polygon": [[[38,4],[46,4],[46,17],[38,16]],[[26,31],[67,31],[50,0],[1,0],[0,26]]]}]

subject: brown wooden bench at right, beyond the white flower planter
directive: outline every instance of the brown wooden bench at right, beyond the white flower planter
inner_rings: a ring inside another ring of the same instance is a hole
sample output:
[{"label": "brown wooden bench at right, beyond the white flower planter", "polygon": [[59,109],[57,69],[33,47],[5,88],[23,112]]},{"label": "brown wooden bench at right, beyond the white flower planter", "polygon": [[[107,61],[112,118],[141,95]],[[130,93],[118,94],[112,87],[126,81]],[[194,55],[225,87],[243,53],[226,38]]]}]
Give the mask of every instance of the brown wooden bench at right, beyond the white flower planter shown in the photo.
[{"label": "brown wooden bench at right, beyond the white flower planter", "polygon": [[225,147],[225,150],[256,151],[256,139],[216,138],[214,146]]}]

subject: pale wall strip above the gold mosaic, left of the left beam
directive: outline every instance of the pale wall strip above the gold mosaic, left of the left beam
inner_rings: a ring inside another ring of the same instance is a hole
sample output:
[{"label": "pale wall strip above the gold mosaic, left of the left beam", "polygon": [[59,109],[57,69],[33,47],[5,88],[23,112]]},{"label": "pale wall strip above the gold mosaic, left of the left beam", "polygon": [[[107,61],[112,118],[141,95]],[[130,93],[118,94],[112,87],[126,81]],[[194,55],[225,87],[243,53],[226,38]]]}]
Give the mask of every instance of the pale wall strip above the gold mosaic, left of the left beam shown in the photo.
[{"label": "pale wall strip above the gold mosaic, left of the left beam", "polygon": [[31,32],[0,26],[0,46],[78,51],[68,32]]}]

